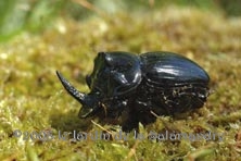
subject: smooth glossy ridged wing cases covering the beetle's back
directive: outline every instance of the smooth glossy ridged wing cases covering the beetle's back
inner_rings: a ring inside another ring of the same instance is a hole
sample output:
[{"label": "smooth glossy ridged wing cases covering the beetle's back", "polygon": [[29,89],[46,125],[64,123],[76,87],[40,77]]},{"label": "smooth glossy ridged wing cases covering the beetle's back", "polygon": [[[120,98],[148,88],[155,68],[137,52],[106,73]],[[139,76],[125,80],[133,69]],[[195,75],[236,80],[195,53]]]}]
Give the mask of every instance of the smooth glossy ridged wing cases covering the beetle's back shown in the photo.
[{"label": "smooth glossy ridged wing cases covering the beetle's back", "polygon": [[193,61],[172,52],[141,54],[142,72],[150,84],[177,86],[183,84],[208,84],[206,72]]}]

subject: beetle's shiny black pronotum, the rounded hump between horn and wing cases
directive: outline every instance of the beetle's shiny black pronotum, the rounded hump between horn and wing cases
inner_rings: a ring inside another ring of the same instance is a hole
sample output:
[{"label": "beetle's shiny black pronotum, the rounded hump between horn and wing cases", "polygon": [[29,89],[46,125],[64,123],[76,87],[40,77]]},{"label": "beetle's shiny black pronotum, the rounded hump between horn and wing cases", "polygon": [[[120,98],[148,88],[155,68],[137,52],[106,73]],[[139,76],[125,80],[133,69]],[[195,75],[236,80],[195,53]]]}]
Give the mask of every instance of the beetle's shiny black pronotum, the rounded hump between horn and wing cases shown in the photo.
[{"label": "beetle's shiny black pronotum, the rounded hump between horn and wing cases", "polygon": [[126,95],[141,82],[139,57],[122,51],[99,52],[86,82],[91,91],[100,91],[103,98]]}]

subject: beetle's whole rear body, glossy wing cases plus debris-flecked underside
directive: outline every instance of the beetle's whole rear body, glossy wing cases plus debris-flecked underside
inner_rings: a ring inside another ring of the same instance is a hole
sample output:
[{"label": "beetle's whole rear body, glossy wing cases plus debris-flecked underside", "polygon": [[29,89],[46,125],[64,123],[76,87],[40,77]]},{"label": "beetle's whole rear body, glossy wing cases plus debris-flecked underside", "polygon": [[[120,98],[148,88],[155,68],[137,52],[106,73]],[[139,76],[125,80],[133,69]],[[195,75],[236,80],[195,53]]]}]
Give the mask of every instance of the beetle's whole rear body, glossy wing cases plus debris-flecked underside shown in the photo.
[{"label": "beetle's whole rear body, glossy wing cases plus debris-flecked underside", "polygon": [[143,75],[139,86],[140,107],[150,107],[157,114],[203,107],[210,94],[210,76],[200,65],[172,52],[148,52],[140,58]]}]

